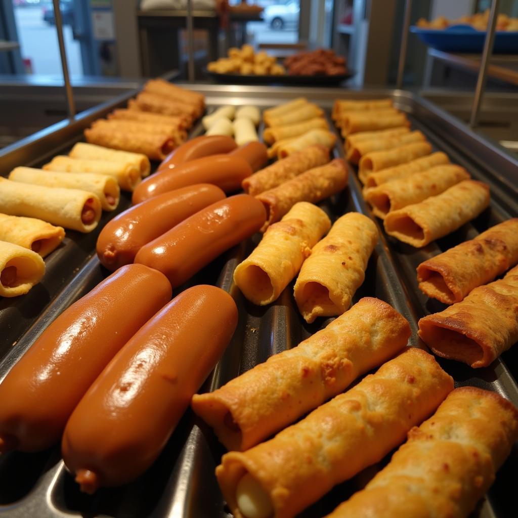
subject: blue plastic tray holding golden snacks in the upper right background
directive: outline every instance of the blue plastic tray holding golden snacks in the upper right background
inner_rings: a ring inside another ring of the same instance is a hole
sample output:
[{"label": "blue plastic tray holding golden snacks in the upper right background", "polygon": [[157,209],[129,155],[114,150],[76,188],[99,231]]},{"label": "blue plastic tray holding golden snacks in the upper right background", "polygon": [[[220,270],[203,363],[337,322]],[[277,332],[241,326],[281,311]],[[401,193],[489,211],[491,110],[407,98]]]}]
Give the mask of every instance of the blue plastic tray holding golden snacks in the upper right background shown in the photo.
[{"label": "blue plastic tray holding golden snacks in the upper right background", "polygon": [[[471,25],[451,25],[447,29],[434,30],[410,27],[410,32],[419,36],[426,45],[448,52],[482,52],[485,31],[477,31]],[[518,53],[518,32],[497,31],[495,53]]]}]

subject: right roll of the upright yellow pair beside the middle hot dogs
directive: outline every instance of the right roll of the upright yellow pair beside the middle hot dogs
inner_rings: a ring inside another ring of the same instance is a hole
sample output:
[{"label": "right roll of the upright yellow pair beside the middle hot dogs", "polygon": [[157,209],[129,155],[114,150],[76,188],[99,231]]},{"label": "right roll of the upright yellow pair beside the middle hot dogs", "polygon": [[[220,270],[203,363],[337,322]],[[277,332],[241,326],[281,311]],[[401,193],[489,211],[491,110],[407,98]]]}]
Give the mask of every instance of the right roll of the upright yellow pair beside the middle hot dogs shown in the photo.
[{"label": "right roll of the upright yellow pair beside the middle hot dogs", "polygon": [[347,311],[377,242],[378,229],[363,214],[349,212],[336,220],[312,248],[295,283],[295,301],[306,322]]}]

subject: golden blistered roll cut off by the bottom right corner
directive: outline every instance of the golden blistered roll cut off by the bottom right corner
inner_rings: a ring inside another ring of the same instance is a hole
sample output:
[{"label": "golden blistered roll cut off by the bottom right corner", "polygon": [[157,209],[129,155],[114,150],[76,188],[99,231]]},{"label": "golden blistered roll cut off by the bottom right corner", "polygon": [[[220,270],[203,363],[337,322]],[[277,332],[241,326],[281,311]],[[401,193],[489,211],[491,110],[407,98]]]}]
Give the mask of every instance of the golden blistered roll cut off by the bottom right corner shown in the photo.
[{"label": "golden blistered roll cut off by the bottom right corner", "polygon": [[507,399],[455,389],[365,489],[327,518],[471,516],[517,439],[518,411]]}]

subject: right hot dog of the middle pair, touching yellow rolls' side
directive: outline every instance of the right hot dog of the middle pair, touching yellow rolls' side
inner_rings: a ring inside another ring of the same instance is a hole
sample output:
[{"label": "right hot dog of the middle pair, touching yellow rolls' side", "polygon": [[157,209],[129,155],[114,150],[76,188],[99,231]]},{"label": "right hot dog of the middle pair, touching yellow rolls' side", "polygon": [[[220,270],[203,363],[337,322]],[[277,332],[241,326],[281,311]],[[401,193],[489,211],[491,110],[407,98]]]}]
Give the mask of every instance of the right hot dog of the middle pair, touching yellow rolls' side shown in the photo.
[{"label": "right hot dog of the middle pair, touching yellow rolls' side", "polygon": [[265,221],[266,210],[259,200],[237,194],[200,210],[143,246],[135,263],[161,271],[176,287],[257,232]]}]

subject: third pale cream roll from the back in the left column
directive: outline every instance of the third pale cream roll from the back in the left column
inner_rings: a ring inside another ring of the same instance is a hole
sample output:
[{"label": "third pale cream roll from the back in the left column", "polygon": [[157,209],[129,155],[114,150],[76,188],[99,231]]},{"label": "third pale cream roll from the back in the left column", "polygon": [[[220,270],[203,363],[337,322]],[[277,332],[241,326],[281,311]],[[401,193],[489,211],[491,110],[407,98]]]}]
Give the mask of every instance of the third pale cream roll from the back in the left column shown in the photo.
[{"label": "third pale cream roll from the back in the left column", "polygon": [[108,175],[80,172],[55,172],[31,167],[16,167],[9,174],[9,180],[22,183],[80,189],[94,193],[104,210],[113,210],[119,205],[120,189],[117,181]]}]

